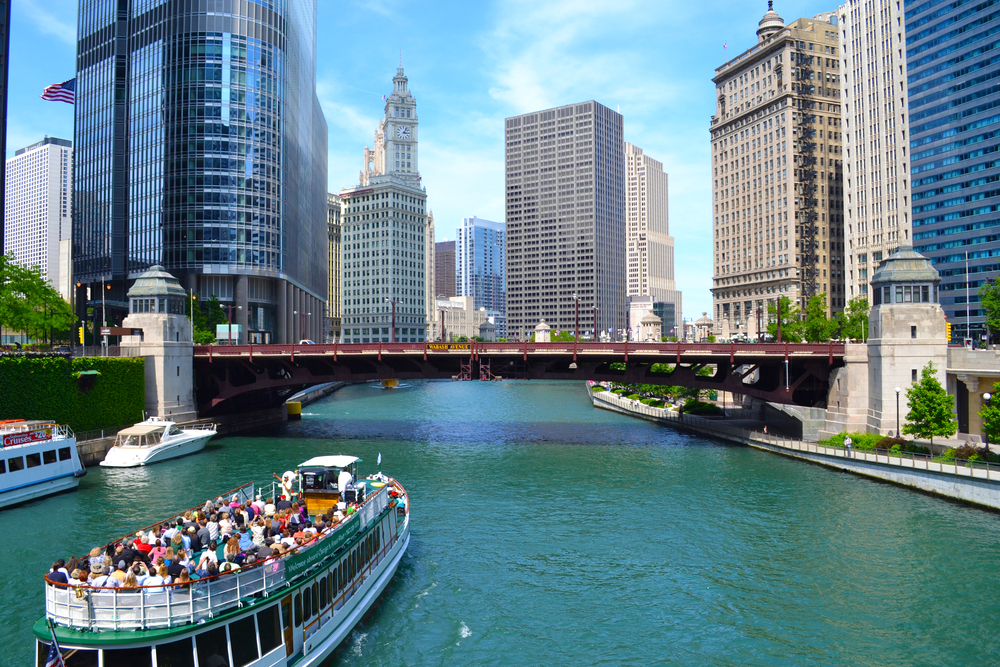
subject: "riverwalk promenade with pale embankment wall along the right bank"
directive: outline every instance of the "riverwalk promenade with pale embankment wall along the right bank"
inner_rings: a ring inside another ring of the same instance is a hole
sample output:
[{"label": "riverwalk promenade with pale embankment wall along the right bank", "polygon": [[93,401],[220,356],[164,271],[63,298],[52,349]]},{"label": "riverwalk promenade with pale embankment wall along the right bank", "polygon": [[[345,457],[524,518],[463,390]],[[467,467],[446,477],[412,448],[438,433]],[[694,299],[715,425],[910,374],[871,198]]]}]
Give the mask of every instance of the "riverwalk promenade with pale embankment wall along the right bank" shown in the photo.
[{"label": "riverwalk promenade with pale embankment wall along the right bank", "polygon": [[654,408],[610,391],[587,391],[594,407],[659,422],[699,435],[736,442],[775,454],[836,468],[926,493],[1000,510],[1000,465],[982,461],[944,461],[940,457],[889,450],[848,451],[815,442],[765,433],[754,419],[700,417]]}]

